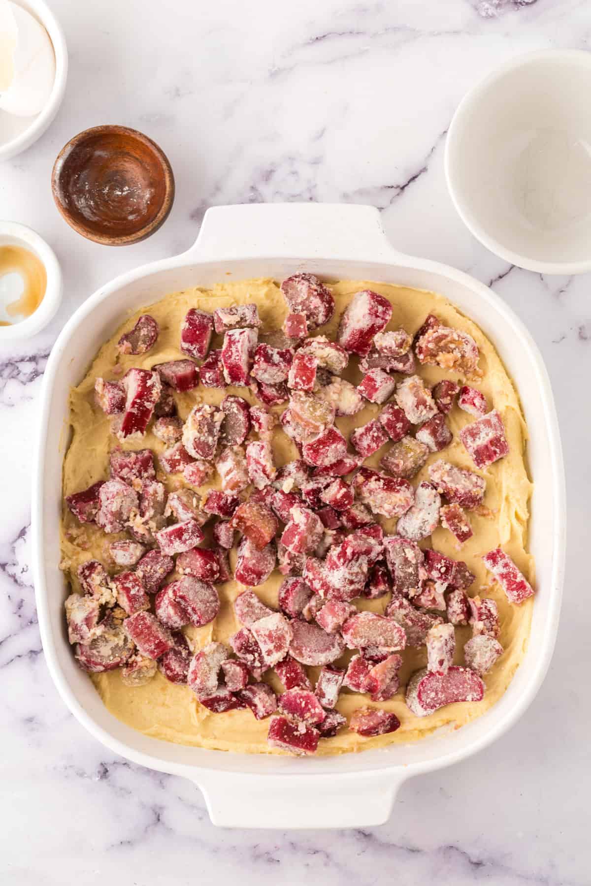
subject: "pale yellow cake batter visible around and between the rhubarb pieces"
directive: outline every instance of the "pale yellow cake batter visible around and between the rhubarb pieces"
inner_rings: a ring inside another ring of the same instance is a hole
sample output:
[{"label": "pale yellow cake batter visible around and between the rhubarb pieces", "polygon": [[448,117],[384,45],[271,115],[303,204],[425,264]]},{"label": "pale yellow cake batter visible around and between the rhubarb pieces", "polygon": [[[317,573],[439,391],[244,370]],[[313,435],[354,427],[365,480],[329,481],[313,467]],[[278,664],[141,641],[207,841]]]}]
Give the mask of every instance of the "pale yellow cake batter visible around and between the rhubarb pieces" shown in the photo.
[{"label": "pale yellow cake batter visible around and between the rhubarb pieces", "polygon": [[[532,618],[533,600],[527,600],[522,606],[515,606],[507,602],[502,589],[491,583],[479,559],[479,556],[486,551],[502,545],[502,548],[517,563],[518,568],[533,582],[533,558],[526,551],[528,501],[532,492],[525,464],[527,431],[517,393],[494,346],[478,329],[478,326],[461,315],[441,296],[432,292],[367,281],[346,281],[330,285],[330,290],[336,300],[336,310],[330,323],[319,330],[320,333],[328,335],[331,339],[335,337],[339,316],[354,293],[362,289],[380,292],[391,301],[393,316],[387,327],[388,330],[404,326],[408,332],[414,333],[423,323],[424,317],[433,313],[444,323],[469,332],[478,344],[479,365],[484,370],[484,377],[481,382],[477,383],[477,386],[486,395],[489,408],[496,408],[501,413],[510,452],[509,455],[495,462],[488,469],[476,471],[486,478],[484,503],[492,513],[486,517],[470,512],[470,524],[474,535],[463,545],[461,552],[455,548],[455,540],[451,533],[440,526],[433,533],[432,547],[468,563],[470,570],[477,576],[468,592],[470,595],[490,596],[498,603],[502,625],[499,640],[505,651],[492,671],[485,677],[486,695],[482,702],[451,704],[432,716],[417,718],[408,711],[404,703],[404,687],[409,674],[426,664],[426,652],[424,647],[422,649],[406,649],[402,653],[404,664],[400,671],[401,689],[397,696],[387,702],[372,703],[369,696],[343,690],[337,705],[338,711],[345,714],[347,718],[355,708],[365,705],[394,711],[400,719],[400,729],[397,732],[374,738],[363,738],[345,727],[334,738],[320,740],[319,754],[344,753],[351,750],[383,747],[390,743],[412,742],[438,727],[447,724],[460,727],[470,719],[478,717],[502,696],[509,685],[517,666],[524,657]],[[137,311],[136,314],[128,317],[128,320],[121,325],[113,338],[101,347],[88,374],[82,383],[72,391],[70,412],[72,441],[67,450],[64,464],[64,495],[79,492],[97,480],[106,479],[108,477],[109,452],[113,447],[120,445],[119,441],[110,433],[109,419],[95,405],[95,378],[97,376],[106,379],[121,378],[130,367],[151,369],[156,363],[182,358],[183,354],[179,350],[180,330],[184,315],[190,307],[213,312],[215,307],[246,302],[256,304],[259,308],[262,321],[260,335],[281,328],[286,307],[278,285],[270,279],[246,280],[237,283],[226,282],[214,286],[212,290],[195,288],[177,292],[167,295],[157,304],[144,308],[144,311]],[[139,356],[119,354],[116,343],[121,337],[121,333],[130,330],[136,323],[137,317],[146,311],[159,323],[160,332],[156,345],[152,351]],[[221,342],[222,337],[216,336],[212,347],[220,347]],[[361,373],[357,369],[355,359],[352,359],[351,364],[343,375],[356,383],[361,378]],[[424,377],[430,385],[444,377],[459,380],[454,374],[447,373],[438,367],[418,366],[417,364],[417,373]],[[184,419],[196,402],[219,403],[229,393],[236,393],[252,403],[256,402],[251,392],[246,388],[218,390],[199,387],[195,391],[175,394],[179,415]],[[283,406],[275,407],[273,411],[280,413],[283,408]],[[379,409],[379,406],[368,403],[356,416],[338,418],[336,424],[348,438],[354,427],[369,422],[371,418],[377,416]],[[432,454],[427,465],[443,457],[463,468],[475,470],[458,438],[458,431],[464,424],[471,421],[473,421],[472,416],[455,407],[448,416],[448,424],[454,433],[454,440],[442,453]],[[141,442],[123,443],[122,447],[125,449],[149,447],[156,453],[165,448],[164,444],[150,430]],[[298,457],[292,441],[280,429],[274,431],[273,448],[277,465]],[[376,455],[366,460],[366,463],[370,466],[377,466],[379,458],[384,455],[386,449],[387,446],[379,450]],[[171,477],[158,470],[158,479],[166,484],[169,491],[183,485],[182,475]],[[423,479],[428,479],[426,465],[412,482],[416,486]],[[205,494],[206,489],[210,486],[219,486],[219,478],[216,477],[213,484],[203,486],[199,492]],[[383,517],[378,519],[384,525],[386,532],[394,532],[395,521],[385,520]],[[108,558],[108,544],[115,539],[126,538],[124,533],[105,536],[94,525],[81,527],[66,507],[63,513],[62,528],[63,568],[75,590],[80,590],[76,570],[85,560],[96,558],[105,563],[107,569],[114,571],[113,563],[110,563]],[[207,529],[207,526],[205,528]],[[428,540],[422,542],[422,546],[429,547]],[[236,552],[230,552],[232,567],[235,557]],[[167,580],[177,577],[175,574],[171,574]],[[275,571],[264,585],[255,588],[263,602],[276,607],[277,588],[283,579],[284,577]],[[228,641],[229,636],[240,627],[234,617],[232,601],[243,590],[243,587],[234,581],[217,587],[222,601],[219,616],[214,619],[212,624],[205,627],[185,628],[185,633],[190,638],[194,649],[205,646],[212,640]],[[360,609],[383,612],[388,599],[387,596],[375,601],[360,599],[356,603]],[[455,663],[463,664],[463,643],[470,638],[470,628],[456,628],[455,634],[457,643]],[[352,654],[347,653],[343,657],[342,663],[345,663]],[[315,668],[309,669],[313,680],[315,680],[317,670]],[[93,674],[91,679],[106,707],[115,717],[153,738],[218,750],[252,753],[281,752],[268,747],[268,719],[254,719],[252,712],[248,709],[229,711],[224,714],[211,713],[198,703],[190,688],[169,683],[159,672],[150,683],[140,688],[124,686],[119,671]],[[268,672],[265,679],[271,682],[277,692],[283,691],[281,683],[276,679],[275,672]]]}]

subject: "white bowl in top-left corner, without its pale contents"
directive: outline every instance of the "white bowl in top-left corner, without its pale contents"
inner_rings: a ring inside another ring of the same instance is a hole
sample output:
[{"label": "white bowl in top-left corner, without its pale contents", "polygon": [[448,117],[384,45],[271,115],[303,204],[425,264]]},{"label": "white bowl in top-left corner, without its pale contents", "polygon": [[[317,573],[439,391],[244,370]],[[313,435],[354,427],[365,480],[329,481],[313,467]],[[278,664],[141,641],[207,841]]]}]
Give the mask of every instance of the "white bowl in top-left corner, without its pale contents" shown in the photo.
[{"label": "white bowl in top-left corner, without its pale contents", "polygon": [[58,113],[66,91],[66,37],[58,19],[44,0],[15,0],[15,2],[34,15],[50,35],[56,57],[56,76],[47,104],[35,117],[15,117],[13,114],[0,111],[0,160],[11,159],[26,151],[40,136],[43,136]]}]

